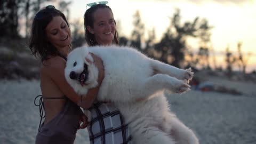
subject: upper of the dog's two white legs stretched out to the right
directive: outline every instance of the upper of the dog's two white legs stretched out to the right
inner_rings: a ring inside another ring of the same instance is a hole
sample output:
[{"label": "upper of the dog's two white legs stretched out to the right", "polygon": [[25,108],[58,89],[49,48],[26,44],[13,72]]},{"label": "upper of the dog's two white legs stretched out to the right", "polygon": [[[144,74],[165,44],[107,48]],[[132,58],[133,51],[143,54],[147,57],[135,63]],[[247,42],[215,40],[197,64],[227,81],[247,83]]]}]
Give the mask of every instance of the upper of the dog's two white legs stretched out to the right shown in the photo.
[{"label": "upper of the dog's two white legs stretched out to the right", "polygon": [[154,59],[150,59],[150,65],[153,67],[155,73],[166,74],[182,80],[190,81],[194,75],[191,68],[180,69]]}]

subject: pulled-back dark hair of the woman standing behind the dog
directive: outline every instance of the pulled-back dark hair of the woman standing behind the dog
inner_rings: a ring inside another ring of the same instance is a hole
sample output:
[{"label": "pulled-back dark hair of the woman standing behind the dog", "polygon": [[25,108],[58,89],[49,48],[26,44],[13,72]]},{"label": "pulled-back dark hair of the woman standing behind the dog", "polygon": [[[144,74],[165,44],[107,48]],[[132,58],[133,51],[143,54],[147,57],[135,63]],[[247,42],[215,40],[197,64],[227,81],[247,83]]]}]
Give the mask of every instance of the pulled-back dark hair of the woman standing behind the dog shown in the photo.
[{"label": "pulled-back dark hair of the woman standing behind the dog", "polygon": [[[110,9],[109,6],[107,6],[106,4],[97,4],[97,5],[93,5],[92,7],[90,7],[88,10],[86,10],[86,12],[84,13],[84,30],[85,30],[85,40],[87,42],[87,44],[89,46],[94,46],[94,45],[99,45],[98,42],[95,40],[95,37],[93,34],[91,34],[89,32],[89,30],[86,28],[87,26],[90,26],[91,28],[93,28],[93,14],[96,10],[98,9],[103,9],[103,8],[107,8],[111,11],[111,13],[113,14],[112,10]],[[114,20],[115,25],[116,25],[116,21]],[[118,33],[117,31],[115,32],[114,35],[114,39],[113,39],[113,43],[114,44],[118,44]]]}]

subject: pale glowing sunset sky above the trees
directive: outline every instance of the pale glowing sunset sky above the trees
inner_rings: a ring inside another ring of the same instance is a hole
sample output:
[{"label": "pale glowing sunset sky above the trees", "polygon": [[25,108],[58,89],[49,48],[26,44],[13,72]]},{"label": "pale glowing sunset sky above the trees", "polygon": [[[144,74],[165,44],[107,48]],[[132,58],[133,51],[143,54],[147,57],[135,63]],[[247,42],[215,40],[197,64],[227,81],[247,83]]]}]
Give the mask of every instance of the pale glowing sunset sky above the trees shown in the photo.
[{"label": "pale glowing sunset sky above the trees", "polygon": [[[102,0],[103,1],[103,0]],[[75,0],[69,6],[70,22],[83,21],[86,4],[97,0]],[[256,69],[256,0],[109,0],[117,21],[119,35],[131,36],[133,15],[139,10],[147,31],[155,28],[157,40],[161,39],[170,25],[170,17],[176,8],[180,9],[181,23],[192,22],[196,17],[207,19],[211,30],[211,47],[217,62],[223,63],[226,47],[237,51],[237,43],[242,42],[242,51],[252,53],[248,59],[247,71]],[[81,28],[83,30],[83,27]],[[198,50],[197,41],[187,41],[188,47]],[[221,56],[222,58],[221,58]]]}]

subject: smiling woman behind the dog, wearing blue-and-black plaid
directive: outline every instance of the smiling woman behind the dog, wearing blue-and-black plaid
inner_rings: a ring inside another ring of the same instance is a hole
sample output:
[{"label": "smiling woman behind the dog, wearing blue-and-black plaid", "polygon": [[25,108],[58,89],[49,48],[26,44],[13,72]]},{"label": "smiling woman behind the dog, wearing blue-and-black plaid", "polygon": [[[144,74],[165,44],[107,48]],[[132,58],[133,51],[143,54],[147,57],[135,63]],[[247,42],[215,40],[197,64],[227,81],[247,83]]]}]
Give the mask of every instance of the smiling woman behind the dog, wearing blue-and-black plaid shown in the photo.
[{"label": "smiling woman behind the dog, wearing blue-and-black plaid", "polygon": [[[86,10],[84,28],[89,46],[118,44],[114,15],[106,4],[95,4]],[[90,143],[131,143],[128,124],[114,103],[93,103],[89,110],[92,116],[88,126]]]}]

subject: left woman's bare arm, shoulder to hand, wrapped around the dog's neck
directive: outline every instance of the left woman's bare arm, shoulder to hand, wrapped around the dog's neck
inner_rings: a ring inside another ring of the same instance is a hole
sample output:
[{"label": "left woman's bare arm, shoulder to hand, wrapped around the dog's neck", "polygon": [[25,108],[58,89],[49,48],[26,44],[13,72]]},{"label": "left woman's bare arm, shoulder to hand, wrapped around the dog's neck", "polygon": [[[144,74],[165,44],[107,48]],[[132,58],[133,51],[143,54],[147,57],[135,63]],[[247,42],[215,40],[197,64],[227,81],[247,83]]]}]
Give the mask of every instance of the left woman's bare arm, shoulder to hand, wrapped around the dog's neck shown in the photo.
[{"label": "left woman's bare arm, shoulder to hand, wrapped around the dog's neck", "polygon": [[99,85],[93,89],[90,89],[86,95],[78,95],[73,88],[68,84],[65,78],[66,61],[60,57],[54,57],[49,59],[46,66],[42,68],[41,73],[48,75],[52,81],[59,87],[59,90],[66,95],[71,101],[77,103],[82,108],[91,107],[95,97],[97,97],[99,87],[104,77],[103,64],[99,57],[92,55],[94,59],[94,65],[99,68]]}]

